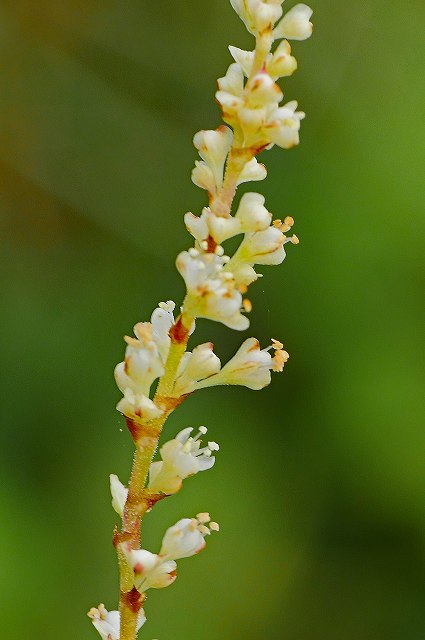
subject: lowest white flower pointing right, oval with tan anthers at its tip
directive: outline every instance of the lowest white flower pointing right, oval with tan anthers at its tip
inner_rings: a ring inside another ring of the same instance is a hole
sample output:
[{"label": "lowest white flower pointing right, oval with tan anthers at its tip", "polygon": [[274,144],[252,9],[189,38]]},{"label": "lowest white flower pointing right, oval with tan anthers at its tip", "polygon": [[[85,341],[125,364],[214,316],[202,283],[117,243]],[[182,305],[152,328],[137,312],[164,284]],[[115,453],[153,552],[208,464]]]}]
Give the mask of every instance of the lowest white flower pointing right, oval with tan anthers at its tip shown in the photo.
[{"label": "lowest white flower pointing right, oval with tan anthers at its tip", "polygon": [[159,555],[166,560],[179,560],[189,558],[199,553],[205,547],[205,536],[211,531],[217,531],[218,525],[210,523],[206,525],[210,517],[207,513],[200,513],[196,518],[183,518],[173,527],[167,529],[162,540]]}]

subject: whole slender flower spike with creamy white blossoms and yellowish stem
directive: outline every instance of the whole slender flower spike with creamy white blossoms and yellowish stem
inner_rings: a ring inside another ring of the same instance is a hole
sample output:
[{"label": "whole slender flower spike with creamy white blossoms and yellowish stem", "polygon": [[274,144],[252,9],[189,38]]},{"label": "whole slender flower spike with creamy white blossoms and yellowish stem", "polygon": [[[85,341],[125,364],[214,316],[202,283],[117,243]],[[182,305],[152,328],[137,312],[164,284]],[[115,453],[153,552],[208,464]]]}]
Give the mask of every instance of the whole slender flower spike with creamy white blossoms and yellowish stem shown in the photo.
[{"label": "whole slender flower spike with creamy white blossoms and yellowish stem", "polygon": [[[117,409],[125,416],[136,449],[128,487],[116,475],[110,477],[112,505],[122,519],[122,527],[114,531],[120,605],[119,611],[108,612],[101,604],[88,614],[103,640],[134,640],[146,620],[142,608],[146,591],[174,582],[176,560],[201,551],[206,536],[219,528],[208,513],[199,513],[170,527],[158,553],[141,548],[144,514],[179,491],[183,480],[210,469],[219,449],[213,441],[202,446],[205,427],[195,435],[186,428],[163,444],[161,459],[152,462],[168,416],[189,394],[205,387],[262,389],[270,383],[271,371],[282,371],[289,357],[278,340],[261,349],[255,338],[245,340],[224,366],[210,342],[187,350],[198,318],[247,329],[245,314],[252,305],[243,296],[260,277],[255,265],[282,263],[285,245],[298,243],[295,235],[286,235],[293,219],[273,221],[258,193],[246,193],[234,215],[231,210],[238,185],[266,177],[257,154],[273,145],[290,149],[299,142],[304,113],[297,111],[295,101],[280,106],[283,93],[276,80],[296,70],[288,40],[311,35],[312,10],[297,4],[282,17],[283,0],[230,1],[256,45],[254,51],[230,47],[234,63],[218,80],[216,98],[228,126],[200,131],[194,137],[201,160],[195,163],[192,180],[208,192],[209,206],[199,216],[187,213],[184,217],[194,237],[194,247],[180,253],[176,262],[186,296],[177,317],[173,302],[159,303],[150,322],[134,327],[135,337],[125,338],[124,362],[115,369],[123,393]],[[226,255],[223,243],[238,235],[242,240],[236,252]]]}]

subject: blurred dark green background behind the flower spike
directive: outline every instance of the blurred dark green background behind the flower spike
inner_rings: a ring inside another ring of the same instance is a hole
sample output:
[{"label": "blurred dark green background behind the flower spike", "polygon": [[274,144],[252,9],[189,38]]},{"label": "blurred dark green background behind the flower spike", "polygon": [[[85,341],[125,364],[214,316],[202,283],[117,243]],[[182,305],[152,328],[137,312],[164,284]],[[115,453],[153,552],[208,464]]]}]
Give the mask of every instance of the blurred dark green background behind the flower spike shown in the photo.
[{"label": "blurred dark green background behind the flower spike", "polygon": [[[144,543],[204,510],[222,531],[149,596],[147,639],[425,638],[425,5],[314,10],[284,83],[302,144],[263,154],[269,177],[250,185],[301,244],[252,287],[249,333],[196,334],[223,358],[276,337],[291,359],[263,392],[205,391],[172,416],[168,436],[204,423],[222,450],[146,518]],[[205,202],[191,141],[220,123],[230,43],[252,41],[227,0],[1,0],[9,640],[94,639],[85,612],[116,606],[107,478],[128,477],[132,446],[112,370],[132,325],[183,294],[182,215]]]}]

